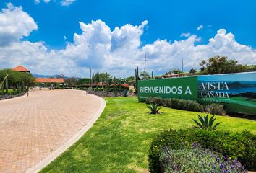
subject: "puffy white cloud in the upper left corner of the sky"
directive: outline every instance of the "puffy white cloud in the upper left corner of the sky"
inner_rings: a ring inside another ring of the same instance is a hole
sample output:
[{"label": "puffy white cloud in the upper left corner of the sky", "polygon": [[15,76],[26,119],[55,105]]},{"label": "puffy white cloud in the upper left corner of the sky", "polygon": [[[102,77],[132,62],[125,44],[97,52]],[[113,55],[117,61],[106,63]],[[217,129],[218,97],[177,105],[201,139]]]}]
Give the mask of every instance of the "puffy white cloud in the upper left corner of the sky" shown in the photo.
[{"label": "puffy white cloud in the upper left corner of the sky", "polygon": [[0,12],[0,45],[18,41],[37,29],[34,19],[23,12],[22,7],[14,7],[9,3],[7,9]]}]

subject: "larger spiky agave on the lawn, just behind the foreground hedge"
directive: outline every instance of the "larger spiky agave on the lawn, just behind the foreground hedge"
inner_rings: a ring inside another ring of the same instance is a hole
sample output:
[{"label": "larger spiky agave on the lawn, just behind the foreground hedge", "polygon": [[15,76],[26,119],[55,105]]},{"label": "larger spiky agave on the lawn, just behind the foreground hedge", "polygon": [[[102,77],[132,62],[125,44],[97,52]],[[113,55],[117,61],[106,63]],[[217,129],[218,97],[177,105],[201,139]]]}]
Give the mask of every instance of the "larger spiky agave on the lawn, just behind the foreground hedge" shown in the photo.
[{"label": "larger spiky agave on the lawn, just behind the foreground hedge", "polygon": [[201,117],[200,115],[198,115],[198,119],[200,121],[198,122],[197,120],[194,120],[194,119],[193,120],[197,124],[198,128],[200,128],[200,129],[207,129],[207,128],[215,129],[222,122],[219,122],[219,123],[216,123],[216,125],[213,125],[214,121],[216,120],[216,118],[214,118],[214,116],[215,115],[213,115],[212,117],[210,117],[210,119],[208,119],[208,115],[206,115],[205,117]]}]

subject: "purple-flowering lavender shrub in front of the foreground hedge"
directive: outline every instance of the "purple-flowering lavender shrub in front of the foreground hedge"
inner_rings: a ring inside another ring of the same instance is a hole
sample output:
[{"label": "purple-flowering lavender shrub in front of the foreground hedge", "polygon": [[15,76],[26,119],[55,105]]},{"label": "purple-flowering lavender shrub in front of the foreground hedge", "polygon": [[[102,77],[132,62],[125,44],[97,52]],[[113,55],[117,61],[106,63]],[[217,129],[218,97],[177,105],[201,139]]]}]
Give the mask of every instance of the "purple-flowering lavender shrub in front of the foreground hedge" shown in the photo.
[{"label": "purple-flowering lavender shrub in front of the foreground hedge", "polygon": [[174,150],[165,146],[160,152],[161,172],[246,172],[242,164],[222,154],[193,145]]}]

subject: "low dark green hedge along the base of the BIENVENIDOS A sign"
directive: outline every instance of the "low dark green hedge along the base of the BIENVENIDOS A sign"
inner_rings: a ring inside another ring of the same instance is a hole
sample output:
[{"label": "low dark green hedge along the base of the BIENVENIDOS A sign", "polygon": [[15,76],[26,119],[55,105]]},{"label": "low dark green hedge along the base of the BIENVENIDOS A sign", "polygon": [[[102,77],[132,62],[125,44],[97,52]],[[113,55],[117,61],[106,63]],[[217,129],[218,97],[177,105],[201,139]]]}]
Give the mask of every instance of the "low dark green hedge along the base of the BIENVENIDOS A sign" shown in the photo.
[{"label": "low dark green hedge along the base of the BIENVENIDOS A sign", "polygon": [[204,112],[205,110],[203,105],[200,105],[200,103],[194,100],[186,99],[163,99],[161,97],[149,97],[146,99],[146,103],[153,103],[178,110],[190,110],[196,112]]}]

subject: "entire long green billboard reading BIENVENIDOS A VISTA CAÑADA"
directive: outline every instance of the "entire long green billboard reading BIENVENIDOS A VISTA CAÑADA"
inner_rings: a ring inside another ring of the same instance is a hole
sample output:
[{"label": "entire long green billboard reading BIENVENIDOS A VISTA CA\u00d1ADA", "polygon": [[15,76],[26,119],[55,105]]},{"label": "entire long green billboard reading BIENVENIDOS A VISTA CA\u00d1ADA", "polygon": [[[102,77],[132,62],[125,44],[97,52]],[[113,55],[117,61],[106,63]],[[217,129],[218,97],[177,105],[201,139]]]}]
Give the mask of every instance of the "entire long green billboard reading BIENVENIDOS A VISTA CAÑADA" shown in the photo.
[{"label": "entire long green billboard reading BIENVENIDOS A VISTA CA\u00d1ADA", "polygon": [[139,81],[138,99],[148,97],[220,103],[231,112],[256,115],[256,72]]}]

